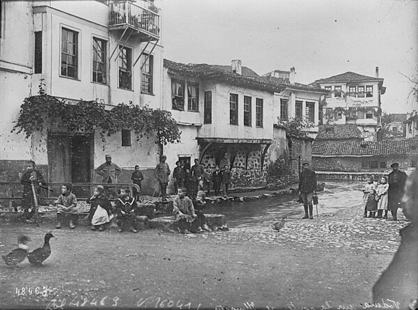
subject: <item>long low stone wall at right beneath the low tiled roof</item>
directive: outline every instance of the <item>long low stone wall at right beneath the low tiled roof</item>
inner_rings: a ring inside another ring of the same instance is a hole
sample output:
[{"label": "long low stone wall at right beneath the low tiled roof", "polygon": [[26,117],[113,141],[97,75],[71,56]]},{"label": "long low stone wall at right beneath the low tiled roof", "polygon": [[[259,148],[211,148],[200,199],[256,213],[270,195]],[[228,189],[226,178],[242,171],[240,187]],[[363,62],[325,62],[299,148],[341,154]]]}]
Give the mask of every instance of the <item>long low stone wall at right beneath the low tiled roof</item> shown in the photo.
[{"label": "long low stone wall at right beneath the low tiled roof", "polygon": [[[378,160],[378,168],[362,168],[365,160]],[[399,169],[405,170],[412,166],[412,160],[418,156],[390,156],[390,157],[312,157],[312,168],[318,171],[346,171],[346,172],[390,172],[393,162],[399,163]],[[380,162],[386,162],[386,168],[380,168]]]}]

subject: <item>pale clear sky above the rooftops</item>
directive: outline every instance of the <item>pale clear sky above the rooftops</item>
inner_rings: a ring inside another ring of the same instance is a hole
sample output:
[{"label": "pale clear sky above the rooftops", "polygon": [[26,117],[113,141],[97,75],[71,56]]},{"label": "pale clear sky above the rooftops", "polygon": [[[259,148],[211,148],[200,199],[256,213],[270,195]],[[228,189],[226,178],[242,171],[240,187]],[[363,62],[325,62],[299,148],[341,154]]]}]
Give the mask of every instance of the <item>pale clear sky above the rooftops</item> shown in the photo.
[{"label": "pale clear sky above the rooftops", "polygon": [[[242,65],[258,75],[295,67],[296,82],[352,71],[385,79],[382,109],[412,110],[418,0],[160,0],[164,58]],[[405,76],[407,77],[405,77]]]}]

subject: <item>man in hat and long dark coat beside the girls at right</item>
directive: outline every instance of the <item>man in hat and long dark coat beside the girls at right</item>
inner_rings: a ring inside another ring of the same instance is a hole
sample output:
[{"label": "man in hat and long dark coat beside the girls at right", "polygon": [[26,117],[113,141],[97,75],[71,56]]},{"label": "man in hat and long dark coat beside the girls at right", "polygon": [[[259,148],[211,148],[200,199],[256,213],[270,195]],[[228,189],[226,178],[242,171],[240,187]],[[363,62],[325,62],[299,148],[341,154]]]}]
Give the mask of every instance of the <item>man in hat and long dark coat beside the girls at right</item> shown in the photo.
[{"label": "man in hat and long dark coat beside the girls at right", "polygon": [[392,220],[396,221],[398,208],[401,208],[403,187],[405,186],[407,176],[405,172],[399,171],[399,164],[397,162],[394,162],[390,166],[393,171],[389,173],[387,178],[387,183],[389,184],[387,208],[392,213]]}]

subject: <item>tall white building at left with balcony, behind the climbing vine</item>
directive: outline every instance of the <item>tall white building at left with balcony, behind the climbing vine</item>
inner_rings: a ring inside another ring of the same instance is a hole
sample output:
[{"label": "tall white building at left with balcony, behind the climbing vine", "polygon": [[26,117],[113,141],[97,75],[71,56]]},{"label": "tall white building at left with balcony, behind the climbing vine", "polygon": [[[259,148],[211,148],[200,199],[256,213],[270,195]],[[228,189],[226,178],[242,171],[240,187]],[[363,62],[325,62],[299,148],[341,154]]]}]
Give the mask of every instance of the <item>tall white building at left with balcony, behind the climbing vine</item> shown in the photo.
[{"label": "tall white building at left with balcony, behind the climbing vine", "polygon": [[131,139],[129,128],[106,143],[94,131],[69,134],[59,122],[29,139],[10,132],[41,82],[48,95],[69,103],[161,108],[162,29],[154,1],[1,1],[0,25],[0,171],[7,180],[18,180],[30,159],[52,183],[99,180],[94,168],[107,153],[123,168],[121,181],[130,180],[135,164],[155,167],[156,144]]}]

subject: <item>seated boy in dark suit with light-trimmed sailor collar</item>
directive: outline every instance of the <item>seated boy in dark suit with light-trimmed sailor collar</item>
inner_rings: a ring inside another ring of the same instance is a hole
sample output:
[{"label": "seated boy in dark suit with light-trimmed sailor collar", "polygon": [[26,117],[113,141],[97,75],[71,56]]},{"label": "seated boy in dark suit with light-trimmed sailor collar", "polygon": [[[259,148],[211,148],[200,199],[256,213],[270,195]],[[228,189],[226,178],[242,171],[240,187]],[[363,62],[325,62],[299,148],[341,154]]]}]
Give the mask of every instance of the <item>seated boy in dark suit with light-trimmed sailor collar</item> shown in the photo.
[{"label": "seated boy in dark suit with light-trimmed sailor collar", "polygon": [[123,222],[127,221],[130,224],[130,232],[137,233],[135,228],[135,222],[137,222],[137,201],[129,196],[129,187],[121,188],[121,197],[116,200],[115,212],[116,212],[116,223],[118,224],[118,232],[123,231]]}]

